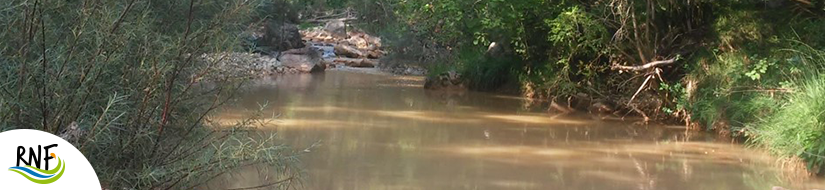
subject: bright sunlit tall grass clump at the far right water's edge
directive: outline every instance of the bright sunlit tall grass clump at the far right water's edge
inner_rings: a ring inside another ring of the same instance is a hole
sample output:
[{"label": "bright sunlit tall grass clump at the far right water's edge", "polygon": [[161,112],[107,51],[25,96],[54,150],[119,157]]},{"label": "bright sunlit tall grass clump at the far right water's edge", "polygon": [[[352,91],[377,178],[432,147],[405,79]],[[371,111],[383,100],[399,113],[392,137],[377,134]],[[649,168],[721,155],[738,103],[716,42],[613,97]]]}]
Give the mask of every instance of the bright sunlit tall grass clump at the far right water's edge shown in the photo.
[{"label": "bright sunlit tall grass clump at the far right water's edge", "polygon": [[809,171],[825,172],[825,52],[798,51],[803,70],[789,75],[793,92],[767,119],[751,126],[752,142],[774,153],[804,160]]}]

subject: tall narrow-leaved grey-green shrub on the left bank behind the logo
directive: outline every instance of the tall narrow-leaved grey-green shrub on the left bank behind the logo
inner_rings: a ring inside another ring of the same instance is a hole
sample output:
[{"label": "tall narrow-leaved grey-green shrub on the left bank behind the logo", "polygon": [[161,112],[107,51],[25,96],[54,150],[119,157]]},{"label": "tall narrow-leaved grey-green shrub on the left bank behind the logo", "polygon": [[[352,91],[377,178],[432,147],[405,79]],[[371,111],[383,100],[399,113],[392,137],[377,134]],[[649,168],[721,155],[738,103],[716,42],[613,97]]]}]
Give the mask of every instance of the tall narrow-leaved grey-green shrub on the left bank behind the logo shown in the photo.
[{"label": "tall narrow-leaved grey-green shrub on the left bank behind the logo", "polygon": [[216,68],[199,56],[233,50],[259,5],[2,1],[0,129],[76,134],[109,189],[191,189],[257,163],[287,185],[296,172],[286,146],[247,130],[252,120],[208,122],[242,81],[201,81]]}]

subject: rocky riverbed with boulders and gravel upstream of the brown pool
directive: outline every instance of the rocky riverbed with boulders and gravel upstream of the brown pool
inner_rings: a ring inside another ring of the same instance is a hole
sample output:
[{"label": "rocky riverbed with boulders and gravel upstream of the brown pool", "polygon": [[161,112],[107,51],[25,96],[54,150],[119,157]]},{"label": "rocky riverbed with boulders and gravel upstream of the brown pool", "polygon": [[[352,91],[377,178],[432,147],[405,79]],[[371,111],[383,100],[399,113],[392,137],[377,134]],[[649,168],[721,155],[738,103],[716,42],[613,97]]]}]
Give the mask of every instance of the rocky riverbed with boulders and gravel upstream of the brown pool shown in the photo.
[{"label": "rocky riverbed with boulders and gravel upstream of the brown pool", "polygon": [[[413,65],[382,65],[387,53],[381,39],[348,28],[342,21],[324,27],[299,30],[295,24],[269,23],[250,27],[244,46],[250,52],[224,52],[201,58],[218,70],[216,76],[262,77],[280,74],[323,72],[326,69],[385,72],[396,75],[426,75]],[[300,43],[297,43],[300,42]]]}]

